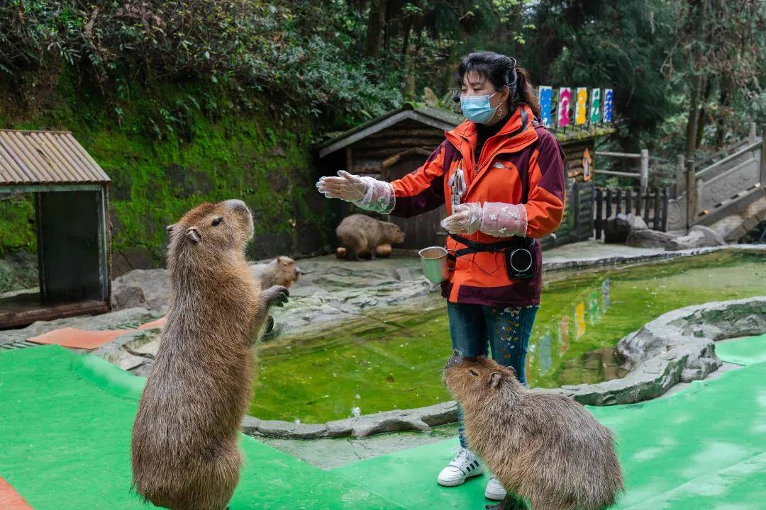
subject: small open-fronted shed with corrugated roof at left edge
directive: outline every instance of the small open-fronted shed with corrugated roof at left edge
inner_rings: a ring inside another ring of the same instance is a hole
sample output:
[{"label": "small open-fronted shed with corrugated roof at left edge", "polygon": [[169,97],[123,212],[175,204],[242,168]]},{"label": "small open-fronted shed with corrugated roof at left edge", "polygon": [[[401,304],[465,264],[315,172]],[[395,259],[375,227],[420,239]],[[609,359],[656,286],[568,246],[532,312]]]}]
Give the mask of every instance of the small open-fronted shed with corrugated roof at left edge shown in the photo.
[{"label": "small open-fronted shed with corrugated roof at left edge", "polygon": [[109,310],[109,183],[70,132],[0,130],[0,193],[34,197],[39,284],[0,298],[0,328]]}]

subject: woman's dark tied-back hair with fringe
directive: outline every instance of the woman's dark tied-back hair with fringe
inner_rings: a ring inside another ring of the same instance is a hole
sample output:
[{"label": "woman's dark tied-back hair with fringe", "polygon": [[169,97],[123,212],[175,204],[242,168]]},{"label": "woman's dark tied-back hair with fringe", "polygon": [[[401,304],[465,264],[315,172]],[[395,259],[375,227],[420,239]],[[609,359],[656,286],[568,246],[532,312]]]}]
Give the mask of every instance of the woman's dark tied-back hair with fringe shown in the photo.
[{"label": "woman's dark tied-back hair with fringe", "polygon": [[[471,71],[476,72],[483,80],[489,80],[495,89],[508,86],[511,91],[509,101],[512,106],[523,103],[532,109],[535,118],[540,118],[540,102],[537,100],[532,83],[529,83],[529,73],[522,67],[516,66],[516,59],[497,54],[493,51],[476,51],[460,59],[455,73],[457,90],[463,86],[463,77]],[[459,92],[454,96],[459,98]],[[460,99],[457,99],[458,101]]]}]

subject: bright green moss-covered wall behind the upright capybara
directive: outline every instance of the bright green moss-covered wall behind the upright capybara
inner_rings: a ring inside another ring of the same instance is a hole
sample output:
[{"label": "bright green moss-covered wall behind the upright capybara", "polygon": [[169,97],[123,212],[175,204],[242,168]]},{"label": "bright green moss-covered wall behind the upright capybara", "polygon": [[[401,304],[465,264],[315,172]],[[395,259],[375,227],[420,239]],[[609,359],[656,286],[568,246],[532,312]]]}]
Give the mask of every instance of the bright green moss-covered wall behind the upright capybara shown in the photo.
[{"label": "bright green moss-covered wall behind the upright capybara", "polygon": [[[120,103],[117,121],[93,91],[70,89],[68,80],[60,87],[66,101],[13,127],[68,128],[110,175],[113,252],[140,249],[160,261],[163,226],[198,203],[229,198],[244,200],[254,211],[256,236],[279,242],[256,242],[252,256],[293,247],[306,252],[312,247],[301,238],[311,236],[313,249],[329,242],[332,210],[319,207],[321,197],[314,197],[308,120],[275,119],[259,112],[257,102],[255,112],[230,105],[227,115],[213,118],[193,98],[228,104],[224,89],[126,85],[130,101]],[[158,110],[164,118],[155,122],[152,112]],[[2,252],[34,251],[33,219],[31,200],[0,200]]]}]

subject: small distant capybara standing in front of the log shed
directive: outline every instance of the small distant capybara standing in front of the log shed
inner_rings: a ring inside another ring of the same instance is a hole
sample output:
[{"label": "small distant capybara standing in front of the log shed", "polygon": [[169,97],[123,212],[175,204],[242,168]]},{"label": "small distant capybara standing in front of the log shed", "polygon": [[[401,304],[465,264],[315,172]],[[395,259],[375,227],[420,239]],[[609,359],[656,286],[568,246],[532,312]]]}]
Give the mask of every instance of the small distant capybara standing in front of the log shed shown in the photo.
[{"label": "small distant capybara standing in front of the log shed", "polygon": [[378,246],[404,242],[404,232],[397,225],[364,214],[346,216],[336,229],[336,236],[345,246],[349,260],[359,260],[360,252],[369,252],[375,260]]}]

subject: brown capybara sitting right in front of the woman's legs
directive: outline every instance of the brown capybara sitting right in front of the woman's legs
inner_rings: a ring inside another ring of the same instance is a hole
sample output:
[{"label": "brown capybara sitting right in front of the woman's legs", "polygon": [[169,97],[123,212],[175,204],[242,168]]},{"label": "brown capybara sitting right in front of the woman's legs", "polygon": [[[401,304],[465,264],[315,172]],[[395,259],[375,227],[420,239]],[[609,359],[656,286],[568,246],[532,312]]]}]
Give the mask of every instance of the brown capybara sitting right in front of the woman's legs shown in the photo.
[{"label": "brown capybara sitting right in front of the woman's legs", "polygon": [[444,382],[470,447],[508,491],[487,508],[521,510],[524,498],[532,510],[602,510],[624,489],[611,430],[574,399],[529,390],[485,356],[453,356]]}]

